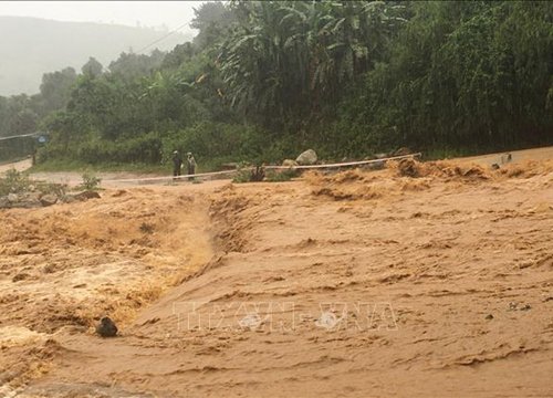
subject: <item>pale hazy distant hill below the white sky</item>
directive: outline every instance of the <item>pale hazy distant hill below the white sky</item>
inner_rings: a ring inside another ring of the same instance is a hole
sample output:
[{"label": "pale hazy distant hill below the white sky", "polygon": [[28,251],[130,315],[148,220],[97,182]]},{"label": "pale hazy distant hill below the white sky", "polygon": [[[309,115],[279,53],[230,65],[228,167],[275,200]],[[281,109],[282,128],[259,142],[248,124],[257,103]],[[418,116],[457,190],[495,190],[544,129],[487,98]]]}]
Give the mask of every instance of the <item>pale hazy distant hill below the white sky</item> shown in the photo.
[{"label": "pale hazy distant hill below the white sky", "polygon": [[[90,56],[107,65],[123,51],[138,51],[166,34],[145,28],[0,17],[0,95],[35,94],[45,72],[66,66],[79,71]],[[153,49],[171,50],[189,40],[175,33]]]}]

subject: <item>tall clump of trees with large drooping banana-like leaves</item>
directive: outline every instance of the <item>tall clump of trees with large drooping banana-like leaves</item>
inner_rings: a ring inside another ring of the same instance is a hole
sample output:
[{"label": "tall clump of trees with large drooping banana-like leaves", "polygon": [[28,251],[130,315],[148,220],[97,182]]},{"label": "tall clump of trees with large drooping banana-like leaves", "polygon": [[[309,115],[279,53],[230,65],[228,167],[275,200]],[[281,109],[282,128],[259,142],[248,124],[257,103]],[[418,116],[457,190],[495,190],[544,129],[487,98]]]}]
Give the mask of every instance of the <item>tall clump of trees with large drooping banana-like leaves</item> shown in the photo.
[{"label": "tall clump of trees with large drooping banana-like leaves", "polygon": [[347,84],[384,57],[403,21],[384,2],[238,1],[222,44],[229,102],[269,125],[325,112]]}]

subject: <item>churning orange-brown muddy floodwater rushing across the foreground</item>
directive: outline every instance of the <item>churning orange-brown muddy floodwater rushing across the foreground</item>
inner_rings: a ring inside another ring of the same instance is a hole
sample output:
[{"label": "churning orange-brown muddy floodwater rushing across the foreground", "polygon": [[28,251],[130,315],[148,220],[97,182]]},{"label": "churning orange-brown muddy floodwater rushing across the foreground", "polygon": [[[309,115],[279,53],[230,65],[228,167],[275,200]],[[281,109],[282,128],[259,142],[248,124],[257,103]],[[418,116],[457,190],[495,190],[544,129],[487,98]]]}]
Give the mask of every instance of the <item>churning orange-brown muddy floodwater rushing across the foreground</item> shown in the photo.
[{"label": "churning orange-brown muddy floodwater rushing across the foreground", "polygon": [[0,211],[0,396],[553,395],[552,160],[101,196]]}]

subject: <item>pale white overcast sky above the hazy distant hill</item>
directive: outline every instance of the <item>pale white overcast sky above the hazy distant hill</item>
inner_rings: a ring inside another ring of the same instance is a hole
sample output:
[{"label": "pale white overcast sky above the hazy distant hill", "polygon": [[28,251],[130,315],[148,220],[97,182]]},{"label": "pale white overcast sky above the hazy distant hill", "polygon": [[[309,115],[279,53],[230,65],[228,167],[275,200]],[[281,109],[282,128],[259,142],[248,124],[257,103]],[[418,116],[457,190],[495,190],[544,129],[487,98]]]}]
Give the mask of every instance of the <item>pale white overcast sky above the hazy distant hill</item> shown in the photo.
[{"label": "pale white overcast sky above the hazy distant hill", "polygon": [[0,1],[0,15],[101,22],[197,33],[192,8],[205,1]]}]

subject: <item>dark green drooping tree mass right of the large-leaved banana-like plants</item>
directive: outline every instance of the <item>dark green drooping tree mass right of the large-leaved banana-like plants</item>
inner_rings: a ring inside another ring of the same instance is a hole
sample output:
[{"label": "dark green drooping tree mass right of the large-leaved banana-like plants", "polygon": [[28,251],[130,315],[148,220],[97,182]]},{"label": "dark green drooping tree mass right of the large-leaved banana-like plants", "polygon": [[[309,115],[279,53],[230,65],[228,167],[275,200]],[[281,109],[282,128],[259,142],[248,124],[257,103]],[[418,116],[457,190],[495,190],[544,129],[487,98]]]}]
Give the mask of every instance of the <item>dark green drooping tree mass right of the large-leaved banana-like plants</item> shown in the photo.
[{"label": "dark green drooping tree mass right of the large-leaved banana-like plants", "polygon": [[340,132],[356,151],[408,145],[471,153],[551,143],[551,3],[409,8],[389,60],[344,101],[331,142]]}]

